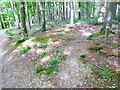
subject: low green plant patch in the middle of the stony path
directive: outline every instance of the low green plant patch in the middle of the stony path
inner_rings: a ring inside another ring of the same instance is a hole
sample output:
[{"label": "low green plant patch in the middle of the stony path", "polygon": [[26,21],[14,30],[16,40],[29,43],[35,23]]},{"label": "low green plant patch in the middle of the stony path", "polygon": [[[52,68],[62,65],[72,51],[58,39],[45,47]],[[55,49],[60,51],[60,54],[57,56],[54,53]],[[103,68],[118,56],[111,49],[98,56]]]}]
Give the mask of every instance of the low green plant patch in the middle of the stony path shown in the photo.
[{"label": "low green plant patch in the middle of the stony path", "polygon": [[49,56],[50,59],[47,62],[43,63],[43,64],[37,65],[35,67],[35,72],[36,73],[43,72],[45,75],[50,75],[53,72],[58,72],[59,71],[58,64],[62,60],[67,59],[67,56],[64,55],[58,48],[56,48],[56,49],[54,49],[54,51],[51,54],[48,54],[48,53],[44,52],[41,55],[37,55],[31,61],[37,63],[38,59],[43,59],[43,58],[45,58],[47,56]]}]

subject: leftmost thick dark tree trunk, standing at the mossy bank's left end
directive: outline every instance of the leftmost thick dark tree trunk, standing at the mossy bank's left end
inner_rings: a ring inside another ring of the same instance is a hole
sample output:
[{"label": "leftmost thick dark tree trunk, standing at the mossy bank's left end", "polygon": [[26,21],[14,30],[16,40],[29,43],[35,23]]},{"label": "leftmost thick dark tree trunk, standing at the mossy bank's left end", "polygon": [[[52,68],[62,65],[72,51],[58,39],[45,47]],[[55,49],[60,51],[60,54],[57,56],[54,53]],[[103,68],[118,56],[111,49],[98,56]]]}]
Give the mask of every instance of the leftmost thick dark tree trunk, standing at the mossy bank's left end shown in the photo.
[{"label": "leftmost thick dark tree trunk, standing at the mossy bank's left end", "polygon": [[21,26],[22,26],[22,30],[23,30],[23,34],[24,36],[28,36],[27,34],[27,28],[26,28],[26,15],[25,15],[25,7],[24,4],[25,2],[23,2],[23,0],[20,2],[20,15],[21,15]]}]

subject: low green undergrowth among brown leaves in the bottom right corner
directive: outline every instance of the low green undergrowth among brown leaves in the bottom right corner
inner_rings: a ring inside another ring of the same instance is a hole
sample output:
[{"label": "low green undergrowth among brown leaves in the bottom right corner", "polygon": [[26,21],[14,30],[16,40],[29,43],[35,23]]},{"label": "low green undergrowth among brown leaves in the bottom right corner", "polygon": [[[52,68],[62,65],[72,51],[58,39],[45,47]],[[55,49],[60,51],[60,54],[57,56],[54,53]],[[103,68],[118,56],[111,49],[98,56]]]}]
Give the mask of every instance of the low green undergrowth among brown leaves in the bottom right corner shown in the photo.
[{"label": "low green undergrowth among brown leaves in the bottom right corner", "polygon": [[116,87],[118,82],[118,75],[111,69],[103,66],[97,66],[91,73],[95,76],[95,79],[105,87]]}]

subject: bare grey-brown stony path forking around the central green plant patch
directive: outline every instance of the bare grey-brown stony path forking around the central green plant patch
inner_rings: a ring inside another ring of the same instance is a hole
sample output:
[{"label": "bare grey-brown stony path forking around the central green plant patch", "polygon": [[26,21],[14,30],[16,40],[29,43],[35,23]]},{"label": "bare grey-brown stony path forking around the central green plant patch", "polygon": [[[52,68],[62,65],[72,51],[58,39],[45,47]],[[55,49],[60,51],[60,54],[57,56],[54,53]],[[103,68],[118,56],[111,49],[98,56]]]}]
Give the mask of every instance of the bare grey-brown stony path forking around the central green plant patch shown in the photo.
[{"label": "bare grey-brown stony path forking around the central green plant patch", "polygon": [[[64,25],[65,26],[65,25]],[[66,26],[65,26],[66,27]],[[87,55],[88,60],[101,58],[96,56],[92,58],[87,48],[90,43],[86,37],[91,33],[99,32],[100,26],[94,25],[77,25],[71,28],[73,35],[72,40],[67,41],[65,45],[59,45],[60,50],[67,55],[67,60],[59,64],[59,72],[51,75],[36,74],[34,63],[30,62],[31,57],[36,53],[26,53],[19,56],[14,52],[9,58],[2,59],[2,87],[3,88],[83,88],[99,87],[94,77],[90,65],[83,63],[84,59],[79,56]],[[57,30],[57,29],[55,29]],[[51,31],[52,33],[52,31]],[[6,37],[6,36],[5,36]],[[6,42],[4,42],[6,43]],[[5,47],[3,47],[5,48]],[[52,48],[52,47],[51,47]],[[2,51],[3,52],[3,51]],[[6,62],[6,63],[4,63]]]}]

